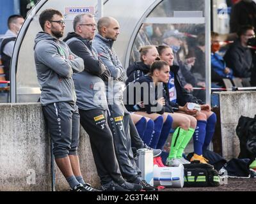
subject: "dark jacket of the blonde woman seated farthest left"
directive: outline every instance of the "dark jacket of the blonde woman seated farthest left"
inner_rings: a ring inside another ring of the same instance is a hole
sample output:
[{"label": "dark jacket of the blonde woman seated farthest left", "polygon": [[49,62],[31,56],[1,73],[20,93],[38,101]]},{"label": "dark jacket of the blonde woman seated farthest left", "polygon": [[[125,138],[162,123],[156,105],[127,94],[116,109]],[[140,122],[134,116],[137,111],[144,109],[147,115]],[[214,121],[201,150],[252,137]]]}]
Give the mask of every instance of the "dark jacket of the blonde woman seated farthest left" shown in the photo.
[{"label": "dark jacket of the blonde woman seated farthest left", "polygon": [[129,68],[127,68],[127,80],[125,84],[129,84],[129,82],[134,82],[138,78],[147,75],[149,73],[150,66],[144,64],[143,62],[134,62]]}]

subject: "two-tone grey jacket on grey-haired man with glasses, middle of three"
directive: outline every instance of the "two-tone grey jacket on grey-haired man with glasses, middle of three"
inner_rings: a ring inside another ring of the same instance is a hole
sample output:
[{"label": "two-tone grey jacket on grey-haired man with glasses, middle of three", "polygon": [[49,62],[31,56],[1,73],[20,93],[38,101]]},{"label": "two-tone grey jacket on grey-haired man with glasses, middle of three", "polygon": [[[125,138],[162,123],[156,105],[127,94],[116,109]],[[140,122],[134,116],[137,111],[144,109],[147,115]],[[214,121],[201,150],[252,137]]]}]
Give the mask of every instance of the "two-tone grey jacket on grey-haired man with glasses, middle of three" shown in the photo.
[{"label": "two-tone grey jacket on grey-haired man with glasses, middle of three", "polygon": [[[106,87],[110,74],[99,60],[92,41],[86,40],[76,33],[68,33],[65,41],[70,50],[84,61],[84,71],[72,76],[76,87],[77,106],[82,110],[108,110]],[[103,81],[104,80],[104,81]]]}]

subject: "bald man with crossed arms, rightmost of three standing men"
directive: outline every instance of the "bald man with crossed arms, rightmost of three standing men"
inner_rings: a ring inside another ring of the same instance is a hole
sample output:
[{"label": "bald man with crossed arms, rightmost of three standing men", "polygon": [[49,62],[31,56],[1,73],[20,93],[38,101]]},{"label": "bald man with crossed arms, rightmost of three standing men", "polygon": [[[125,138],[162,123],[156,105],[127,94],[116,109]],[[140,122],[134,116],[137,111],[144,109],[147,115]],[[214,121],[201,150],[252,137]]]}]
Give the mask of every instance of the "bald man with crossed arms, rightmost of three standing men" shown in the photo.
[{"label": "bald man with crossed arms, rightmost of three standing men", "polygon": [[109,69],[111,77],[113,77],[113,82],[109,82],[107,85],[110,112],[109,126],[113,133],[120,170],[127,181],[140,184],[145,191],[155,191],[154,187],[141,178],[141,171],[136,166],[132,154],[131,139],[140,146],[139,148],[145,148],[145,144],[140,139],[140,136],[132,136],[131,138],[130,128],[133,128],[132,132],[135,134],[138,131],[136,131],[134,124],[133,126],[132,124],[129,125],[131,123],[131,115],[126,110],[122,101],[125,69],[113,49],[113,43],[120,34],[119,24],[115,18],[102,17],[98,21],[98,31],[99,33],[96,34],[93,45],[97,49],[100,59],[104,62],[106,68]]}]

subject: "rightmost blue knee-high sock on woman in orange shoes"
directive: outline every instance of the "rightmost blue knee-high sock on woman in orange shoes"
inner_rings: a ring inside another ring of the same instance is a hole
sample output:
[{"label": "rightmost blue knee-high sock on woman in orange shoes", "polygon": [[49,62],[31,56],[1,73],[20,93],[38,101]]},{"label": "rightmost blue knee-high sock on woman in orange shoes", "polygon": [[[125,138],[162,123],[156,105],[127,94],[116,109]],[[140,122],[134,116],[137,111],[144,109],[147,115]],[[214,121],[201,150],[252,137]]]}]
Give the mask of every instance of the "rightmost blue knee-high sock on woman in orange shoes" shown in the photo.
[{"label": "rightmost blue knee-high sock on woman in orange shoes", "polygon": [[209,119],[207,119],[206,133],[205,133],[205,140],[204,140],[203,149],[207,149],[207,147],[209,146],[209,144],[212,141],[212,136],[214,134],[216,122],[217,122],[216,114],[212,113],[212,115],[209,117]]}]

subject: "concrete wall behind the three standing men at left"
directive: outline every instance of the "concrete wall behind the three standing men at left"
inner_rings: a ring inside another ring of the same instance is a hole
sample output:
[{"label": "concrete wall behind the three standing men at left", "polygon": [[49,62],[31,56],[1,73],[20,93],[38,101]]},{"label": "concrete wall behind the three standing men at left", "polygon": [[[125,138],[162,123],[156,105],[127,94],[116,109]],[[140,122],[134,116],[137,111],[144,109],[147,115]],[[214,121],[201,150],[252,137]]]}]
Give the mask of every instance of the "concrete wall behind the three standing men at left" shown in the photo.
[{"label": "concrete wall behind the three standing men at left", "polygon": [[[90,141],[81,129],[79,158],[86,182],[99,187]],[[56,190],[68,190],[56,166]],[[0,104],[0,191],[51,191],[51,152],[40,103]]]}]

